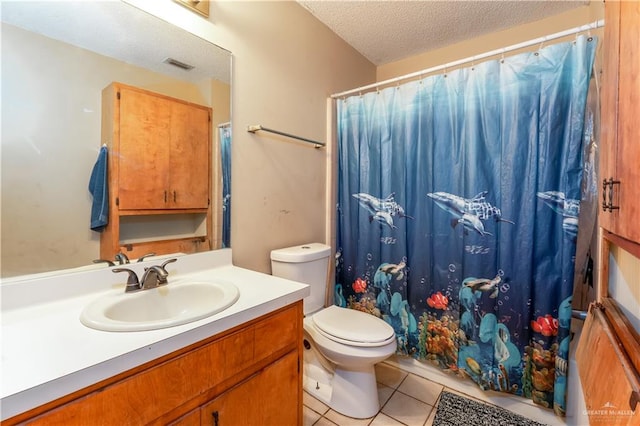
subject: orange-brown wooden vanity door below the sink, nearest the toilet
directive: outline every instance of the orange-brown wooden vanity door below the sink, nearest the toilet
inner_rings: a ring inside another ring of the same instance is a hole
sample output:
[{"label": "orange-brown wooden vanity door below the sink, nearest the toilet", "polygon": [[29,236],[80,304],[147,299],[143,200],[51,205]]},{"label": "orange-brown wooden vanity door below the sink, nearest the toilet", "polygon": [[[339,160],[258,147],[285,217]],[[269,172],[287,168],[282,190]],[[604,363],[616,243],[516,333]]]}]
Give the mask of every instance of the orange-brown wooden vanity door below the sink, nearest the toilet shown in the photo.
[{"label": "orange-brown wooden vanity door below the sink, nearest the toilet", "polygon": [[298,352],[290,352],[264,370],[202,407],[202,425],[299,425]]}]

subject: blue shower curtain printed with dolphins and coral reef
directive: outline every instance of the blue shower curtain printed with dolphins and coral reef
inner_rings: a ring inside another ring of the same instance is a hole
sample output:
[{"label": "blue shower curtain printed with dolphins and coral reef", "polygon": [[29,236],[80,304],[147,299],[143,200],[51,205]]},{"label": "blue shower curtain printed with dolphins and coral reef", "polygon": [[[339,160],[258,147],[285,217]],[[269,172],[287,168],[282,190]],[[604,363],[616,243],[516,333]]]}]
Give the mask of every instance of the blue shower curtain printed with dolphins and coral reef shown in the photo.
[{"label": "blue shower curtain printed with dolphins and coral reef", "polygon": [[391,324],[399,353],[558,415],[595,45],[337,102],[335,303]]}]

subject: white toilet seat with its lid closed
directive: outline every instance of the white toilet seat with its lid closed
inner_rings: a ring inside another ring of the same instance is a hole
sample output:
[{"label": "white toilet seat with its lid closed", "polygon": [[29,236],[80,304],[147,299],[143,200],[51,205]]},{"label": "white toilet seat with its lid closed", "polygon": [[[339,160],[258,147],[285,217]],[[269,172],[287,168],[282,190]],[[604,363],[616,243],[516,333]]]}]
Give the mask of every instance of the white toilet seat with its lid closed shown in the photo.
[{"label": "white toilet seat with its lid closed", "polygon": [[330,306],[312,317],[314,328],[327,339],[349,346],[378,347],[395,341],[393,327],[373,315]]}]

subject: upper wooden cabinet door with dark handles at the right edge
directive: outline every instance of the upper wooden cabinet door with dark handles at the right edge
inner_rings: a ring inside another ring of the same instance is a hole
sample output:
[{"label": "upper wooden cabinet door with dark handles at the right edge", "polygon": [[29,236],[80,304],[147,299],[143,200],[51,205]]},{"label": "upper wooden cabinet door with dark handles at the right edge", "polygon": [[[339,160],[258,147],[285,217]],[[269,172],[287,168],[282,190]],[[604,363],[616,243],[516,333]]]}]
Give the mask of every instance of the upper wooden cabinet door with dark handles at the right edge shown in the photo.
[{"label": "upper wooden cabinet door with dark handles at the right edge", "polygon": [[640,241],[640,2],[607,2],[605,22],[600,225]]}]

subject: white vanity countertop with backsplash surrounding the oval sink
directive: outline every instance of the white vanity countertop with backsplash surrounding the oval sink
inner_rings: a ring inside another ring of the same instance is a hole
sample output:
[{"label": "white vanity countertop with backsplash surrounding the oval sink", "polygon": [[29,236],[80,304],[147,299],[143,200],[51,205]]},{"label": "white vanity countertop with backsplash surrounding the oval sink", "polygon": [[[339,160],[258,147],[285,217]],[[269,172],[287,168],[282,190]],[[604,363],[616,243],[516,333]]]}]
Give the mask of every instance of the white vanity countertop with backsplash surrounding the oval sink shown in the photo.
[{"label": "white vanity countertop with backsplash surrounding the oval sink", "polygon": [[[145,262],[127,265],[142,271]],[[172,268],[173,267],[173,268]],[[109,269],[3,283],[1,419],[7,419],[177,349],[302,300],[308,286],[231,264],[231,250],[183,256],[172,279],[230,281],[236,303],[211,317],[151,331],[108,332],[80,323],[82,309],[121,287],[127,274]]]}]

